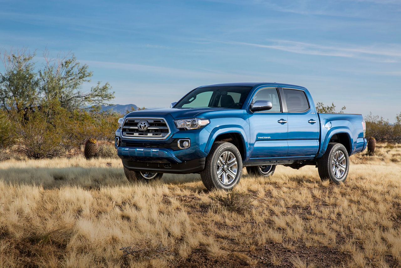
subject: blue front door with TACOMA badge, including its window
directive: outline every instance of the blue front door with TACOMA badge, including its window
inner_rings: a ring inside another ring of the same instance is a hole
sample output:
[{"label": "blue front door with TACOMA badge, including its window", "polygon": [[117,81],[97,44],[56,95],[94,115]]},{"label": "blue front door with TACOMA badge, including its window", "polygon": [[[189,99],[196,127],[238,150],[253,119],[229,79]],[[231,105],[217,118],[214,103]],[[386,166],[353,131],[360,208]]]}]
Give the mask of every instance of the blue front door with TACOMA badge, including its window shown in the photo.
[{"label": "blue front door with TACOMA badge, including its window", "polygon": [[286,157],[287,115],[283,113],[278,88],[261,88],[254,94],[252,103],[256,100],[269,100],[273,107],[267,111],[250,112],[250,147],[251,159]]}]

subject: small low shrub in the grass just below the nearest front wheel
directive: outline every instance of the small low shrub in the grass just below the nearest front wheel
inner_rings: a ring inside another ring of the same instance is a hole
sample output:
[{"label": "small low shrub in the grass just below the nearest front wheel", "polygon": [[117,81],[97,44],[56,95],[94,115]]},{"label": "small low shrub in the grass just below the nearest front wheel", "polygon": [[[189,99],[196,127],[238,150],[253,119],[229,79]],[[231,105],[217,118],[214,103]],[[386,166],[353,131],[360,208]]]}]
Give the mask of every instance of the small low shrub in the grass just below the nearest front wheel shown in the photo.
[{"label": "small low shrub in the grass just below the nearest front wheel", "polygon": [[243,214],[251,208],[253,197],[247,192],[233,190],[227,192],[224,196],[216,195],[213,200],[216,200],[221,206],[225,207],[227,211]]}]

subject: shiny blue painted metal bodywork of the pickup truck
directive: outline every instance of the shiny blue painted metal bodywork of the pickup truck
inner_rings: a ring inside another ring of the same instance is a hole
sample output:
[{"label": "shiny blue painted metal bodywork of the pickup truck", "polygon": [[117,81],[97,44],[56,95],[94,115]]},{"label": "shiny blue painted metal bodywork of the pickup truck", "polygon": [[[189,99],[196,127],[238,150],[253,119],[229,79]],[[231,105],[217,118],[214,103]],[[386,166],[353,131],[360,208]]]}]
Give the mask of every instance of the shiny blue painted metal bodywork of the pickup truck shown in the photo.
[{"label": "shiny blue painted metal bodywork of the pickup truck", "polygon": [[[121,137],[117,129],[115,135],[123,143],[146,142],[152,144],[171,143],[173,139],[190,139],[188,149],[173,150],[153,148],[117,147],[121,158],[130,161],[160,163],[180,163],[204,158],[209,153],[215,139],[225,133],[238,133],[244,144],[244,164],[269,160],[312,160],[322,157],[330,138],[338,133],[346,133],[349,139],[349,155],[363,151],[367,141],[363,138],[362,115],[318,114],[309,91],[301,86],[278,83],[229,83],[211,86],[252,86],[242,109],[227,108],[161,108],[140,110],[125,117],[164,117],[171,133],[164,140],[128,139]],[[288,113],[286,103],[281,97],[281,113],[252,113],[249,105],[254,94],[261,88],[275,87],[282,96],[282,88],[304,90],[310,103],[310,110],[304,113]],[[175,119],[207,118],[210,123],[201,129],[180,131],[174,124]],[[263,119],[262,119],[263,118]],[[278,119],[288,123],[281,125]],[[315,119],[315,124],[307,121]],[[305,122],[304,122],[305,121]],[[282,127],[282,129],[280,129]],[[270,137],[261,139],[258,137]],[[320,142],[321,141],[321,142]],[[285,149],[283,149],[285,148]]]}]

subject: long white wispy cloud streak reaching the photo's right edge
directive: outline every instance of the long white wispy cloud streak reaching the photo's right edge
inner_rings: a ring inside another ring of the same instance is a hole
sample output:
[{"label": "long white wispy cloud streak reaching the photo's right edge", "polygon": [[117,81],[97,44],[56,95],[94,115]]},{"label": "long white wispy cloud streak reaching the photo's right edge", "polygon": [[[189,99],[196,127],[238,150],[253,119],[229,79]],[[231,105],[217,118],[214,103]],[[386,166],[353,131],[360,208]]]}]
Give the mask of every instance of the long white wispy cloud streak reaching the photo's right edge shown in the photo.
[{"label": "long white wispy cloud streak reaching the photo's right edge", "polygon": [[399,44],[387,45],[387,47],[381,45],[381,47],[378,48],[375,46],[347,47],[347,45],[341,44],[338,44],[337,46],[318,45],[288,40],[275,40],[271,41],[268,45],[235,41],[221,41],[221,43],[278,49],[298,54],[349,57],[381,62],[398,62],[395,58],[401,57],[401,45]]}]

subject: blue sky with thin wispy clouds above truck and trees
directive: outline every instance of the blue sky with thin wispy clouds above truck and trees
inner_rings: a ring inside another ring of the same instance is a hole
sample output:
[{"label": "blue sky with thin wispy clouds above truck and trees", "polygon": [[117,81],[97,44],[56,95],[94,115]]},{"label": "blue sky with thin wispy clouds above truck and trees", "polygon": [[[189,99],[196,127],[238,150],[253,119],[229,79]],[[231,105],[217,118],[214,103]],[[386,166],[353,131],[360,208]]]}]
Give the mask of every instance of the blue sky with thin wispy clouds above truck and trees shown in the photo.
[{"label": "blue sky with thin wispy clouds above truck and trees", "polygon": [[92,84],[111,84],[116,104],[163,107],[196,86],[266,81],[305,86],[315,102],[348,113],[393,122],[401,112],[401,0],[0,6],[0,48],[71,50]]}]

